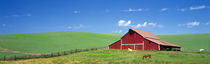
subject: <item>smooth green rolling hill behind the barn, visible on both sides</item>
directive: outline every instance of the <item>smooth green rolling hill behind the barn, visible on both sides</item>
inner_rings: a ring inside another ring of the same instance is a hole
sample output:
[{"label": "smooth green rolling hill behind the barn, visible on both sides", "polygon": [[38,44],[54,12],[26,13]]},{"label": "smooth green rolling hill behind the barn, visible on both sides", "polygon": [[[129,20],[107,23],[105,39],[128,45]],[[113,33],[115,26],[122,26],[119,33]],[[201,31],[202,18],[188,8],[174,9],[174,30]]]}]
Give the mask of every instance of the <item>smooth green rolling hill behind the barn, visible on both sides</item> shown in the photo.
[{"label": "smooth green rolling hill behind the barn, visible on both sides", "polygon": [[[107,47],[119,40],[121,36],[89,32],[9,34],[0,35],[0,47],[26,53],[49,53],[71,49]],[[210,33],[157,36],[164,41],[180,45],[184,51],[189,51],[188,49],[198,51],[201,48],[208,49],[210,46]],[[0,54],[11,55],[4,52]]]}]

